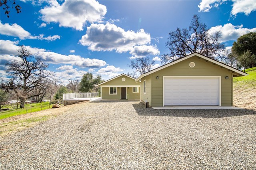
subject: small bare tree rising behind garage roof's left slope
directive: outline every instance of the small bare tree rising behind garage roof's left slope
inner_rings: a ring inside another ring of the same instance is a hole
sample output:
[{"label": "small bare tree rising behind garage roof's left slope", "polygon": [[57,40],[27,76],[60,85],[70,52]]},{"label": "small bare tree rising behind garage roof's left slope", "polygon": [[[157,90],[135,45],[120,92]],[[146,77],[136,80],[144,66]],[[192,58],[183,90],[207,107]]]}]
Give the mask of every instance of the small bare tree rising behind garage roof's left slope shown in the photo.
[{"label": "small bare tree rising behind garage roof's left slope", "polygon": [[151,61],[149,57],[136,58],[135,61],[132,60],[131,63],[128,64],[128,67],[131,67],[134,72],[141,75],[152,70],[154,64],[155,61]]}]

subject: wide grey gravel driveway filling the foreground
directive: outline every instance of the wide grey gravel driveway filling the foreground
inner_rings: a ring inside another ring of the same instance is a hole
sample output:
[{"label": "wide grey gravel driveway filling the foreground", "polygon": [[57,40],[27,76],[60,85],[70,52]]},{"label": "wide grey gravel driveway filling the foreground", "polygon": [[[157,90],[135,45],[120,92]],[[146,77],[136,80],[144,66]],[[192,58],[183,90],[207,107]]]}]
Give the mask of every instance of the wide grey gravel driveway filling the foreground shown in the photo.
[{"label": "wide grey gravel driveway filling the foreground", "polygon": [[0,169],[256,169],[256,112],[81,103],[0,138]]}]

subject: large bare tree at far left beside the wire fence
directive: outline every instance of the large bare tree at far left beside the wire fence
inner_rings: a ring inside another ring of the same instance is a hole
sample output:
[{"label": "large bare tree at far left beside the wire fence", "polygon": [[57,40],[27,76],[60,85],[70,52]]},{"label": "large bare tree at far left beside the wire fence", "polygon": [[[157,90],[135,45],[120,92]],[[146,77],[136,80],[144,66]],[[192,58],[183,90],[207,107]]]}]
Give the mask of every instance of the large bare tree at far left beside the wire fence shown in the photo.
[{"label": "large bare tree at far left beside the wire fence", "polygon": [[24,45],[20,46],[16,55],[17,59],[7,62],[9,81],[2,81],[1,88],[14,91],[20,100],[20,108],[24,108],[26,99],[36,96],[33,90],[42,86],[45,79],[52,73],[46,72],[48,65],[39,58],[34,58]]}]

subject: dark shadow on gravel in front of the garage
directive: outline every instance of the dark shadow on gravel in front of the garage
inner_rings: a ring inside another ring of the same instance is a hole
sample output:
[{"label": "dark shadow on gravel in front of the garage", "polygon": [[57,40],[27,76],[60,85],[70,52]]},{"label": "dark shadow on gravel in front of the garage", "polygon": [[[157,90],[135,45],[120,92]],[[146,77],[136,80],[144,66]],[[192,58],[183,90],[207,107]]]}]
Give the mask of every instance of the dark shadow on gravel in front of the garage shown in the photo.
[{"label": "dark shadow on gravel in front of the garage", "polygon": [[223,118],[244,115],[256,115],[256,111],[246,109],[172,109],[154,110],[146,108],[143,103],[132,104],[139,116],[169,116],[169,117],[202,117]]}]

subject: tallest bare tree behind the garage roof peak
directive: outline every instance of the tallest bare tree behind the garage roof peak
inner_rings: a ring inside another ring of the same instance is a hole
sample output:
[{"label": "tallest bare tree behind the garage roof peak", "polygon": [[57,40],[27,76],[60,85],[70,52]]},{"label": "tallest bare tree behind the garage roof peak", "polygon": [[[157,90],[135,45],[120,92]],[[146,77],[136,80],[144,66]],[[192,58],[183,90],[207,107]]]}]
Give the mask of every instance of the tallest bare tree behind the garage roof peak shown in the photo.
[{"label": "tallest bare tree behind the garage roof peak", "polygon": [[169,63],[194,52],[214,59],[220,56],[224,49],[224,44],[219,42],[220,38],[220,32],[210,32],[206,25],[200,22],[200,18],[194,15],[189,29],[177,28],[169,33],[166,47],[170,49],[170,53],[164,54],[161,62]]}]

